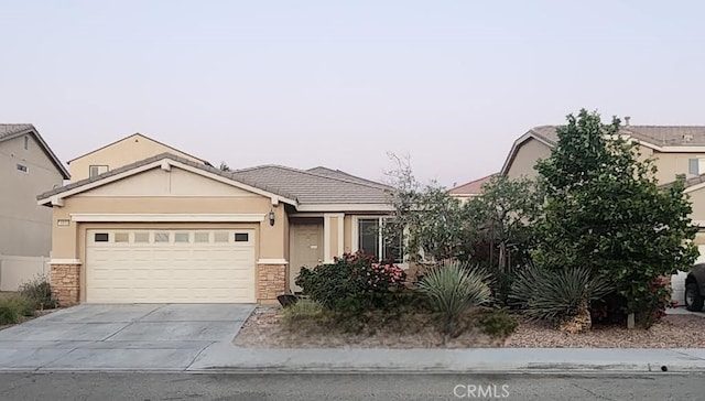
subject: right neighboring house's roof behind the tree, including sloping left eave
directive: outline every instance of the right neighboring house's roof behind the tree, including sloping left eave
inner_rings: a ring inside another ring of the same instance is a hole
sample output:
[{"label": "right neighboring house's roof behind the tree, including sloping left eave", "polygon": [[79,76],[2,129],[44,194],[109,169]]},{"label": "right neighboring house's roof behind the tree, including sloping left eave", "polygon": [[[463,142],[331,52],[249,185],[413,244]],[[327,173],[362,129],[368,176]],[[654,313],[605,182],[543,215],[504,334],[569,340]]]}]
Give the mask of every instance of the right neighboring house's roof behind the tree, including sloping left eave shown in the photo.
[{"label": "right neighboring house's roof behind the tree, including sloping left eave", "polygon": [[[514,141],[502,166],[506,174],[521,144],[535,139],[553,148],[558,142],[557,126],[539,126]],[[657,148],[705,147],[705,126],[623,126],[619,133]]]}]

